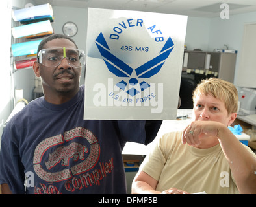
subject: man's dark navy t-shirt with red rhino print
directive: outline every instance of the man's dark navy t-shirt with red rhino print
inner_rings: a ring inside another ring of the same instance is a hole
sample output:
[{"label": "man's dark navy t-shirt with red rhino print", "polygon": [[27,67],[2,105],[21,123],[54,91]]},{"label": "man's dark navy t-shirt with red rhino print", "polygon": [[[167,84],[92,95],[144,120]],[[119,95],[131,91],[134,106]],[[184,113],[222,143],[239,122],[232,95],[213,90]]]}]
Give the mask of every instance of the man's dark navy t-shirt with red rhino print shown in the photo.
[{"label": "man's dark navy t-shirt with red rhino print", "polygon": [[146,121],[83,120],[83,111],[84,86],[62,105],[26,105],[3,131],[0,184],[12,193],[126,193],[123,146],[148,144],[161,122],[146,131]]}]

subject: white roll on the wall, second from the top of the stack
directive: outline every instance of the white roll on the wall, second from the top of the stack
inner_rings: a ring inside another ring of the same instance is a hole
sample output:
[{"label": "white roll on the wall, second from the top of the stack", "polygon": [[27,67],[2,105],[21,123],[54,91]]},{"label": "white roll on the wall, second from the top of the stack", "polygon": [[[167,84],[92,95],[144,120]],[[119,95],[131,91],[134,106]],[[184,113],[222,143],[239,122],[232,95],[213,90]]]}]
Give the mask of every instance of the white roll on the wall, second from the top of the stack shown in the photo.
[{"label": "white roll on the wall, second from the top of the stack", "polygon": [[12,36],[14,38],[25,38],[42,36],[42,34],[53,34],[53,27],[49,20],[32,23],[29,25],[22,25],[19,27],[12,27]]}]

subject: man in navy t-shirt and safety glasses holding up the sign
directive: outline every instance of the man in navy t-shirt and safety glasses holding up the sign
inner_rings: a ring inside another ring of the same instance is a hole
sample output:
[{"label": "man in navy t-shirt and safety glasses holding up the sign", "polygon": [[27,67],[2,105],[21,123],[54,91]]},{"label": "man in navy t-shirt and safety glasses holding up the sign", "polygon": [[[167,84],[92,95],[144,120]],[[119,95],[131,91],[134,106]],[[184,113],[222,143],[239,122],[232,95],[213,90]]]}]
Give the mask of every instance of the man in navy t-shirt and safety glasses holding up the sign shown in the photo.
[{"label": "man in navy t-shirt and safety glasses holding up the sign", "polygon": [[161,122],[83,120],[84,65],[84,52],[68,36],[40,43],[33,69],[44,97],[26,105],[3,131],[3,193],[126,193],[123,146],[148,144]]}]

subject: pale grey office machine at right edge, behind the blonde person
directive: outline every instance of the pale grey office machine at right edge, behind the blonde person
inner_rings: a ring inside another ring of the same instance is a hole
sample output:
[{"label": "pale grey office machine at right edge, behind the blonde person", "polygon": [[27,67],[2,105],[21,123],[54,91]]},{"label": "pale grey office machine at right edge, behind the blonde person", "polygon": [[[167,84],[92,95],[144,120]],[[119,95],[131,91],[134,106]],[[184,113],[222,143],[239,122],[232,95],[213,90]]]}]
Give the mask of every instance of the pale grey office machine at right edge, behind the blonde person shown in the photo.
[{"label": "pale grey office machine at right edge, behind the blonde person", "polygon": [[247,116],[256,114],[256,89],[246,87],[237,87],[238,101],[240,102],[240,110],[238,115]]}]

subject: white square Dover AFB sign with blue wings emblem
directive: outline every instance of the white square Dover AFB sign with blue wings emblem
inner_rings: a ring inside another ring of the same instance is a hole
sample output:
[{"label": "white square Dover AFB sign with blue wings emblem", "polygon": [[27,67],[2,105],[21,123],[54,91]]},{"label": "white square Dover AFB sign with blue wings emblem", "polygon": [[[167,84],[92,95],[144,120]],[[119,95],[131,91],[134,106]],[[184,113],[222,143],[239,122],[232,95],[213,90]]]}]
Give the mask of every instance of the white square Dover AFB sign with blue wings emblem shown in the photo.
[{"label": "white square Dover AFB sign with blue wings emblem", "polygon": [[84,119],[175,119],[186,21],[89,8]]}]

